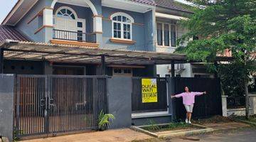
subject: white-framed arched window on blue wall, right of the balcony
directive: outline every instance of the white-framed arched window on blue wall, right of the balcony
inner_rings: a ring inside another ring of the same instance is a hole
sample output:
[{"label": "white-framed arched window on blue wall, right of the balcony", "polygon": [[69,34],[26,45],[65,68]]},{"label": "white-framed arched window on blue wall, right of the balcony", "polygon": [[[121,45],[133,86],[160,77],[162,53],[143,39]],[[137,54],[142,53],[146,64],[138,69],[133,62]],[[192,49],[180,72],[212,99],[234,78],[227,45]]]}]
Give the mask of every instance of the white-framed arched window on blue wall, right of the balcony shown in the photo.
[{"label": "white-framed arched window on blue wall, right of the balcony", "polygon": [[113,38],[132,40],[132,23],[134,23],[132,16],[117,12],[112,14],[110,18],[112,19]]}]

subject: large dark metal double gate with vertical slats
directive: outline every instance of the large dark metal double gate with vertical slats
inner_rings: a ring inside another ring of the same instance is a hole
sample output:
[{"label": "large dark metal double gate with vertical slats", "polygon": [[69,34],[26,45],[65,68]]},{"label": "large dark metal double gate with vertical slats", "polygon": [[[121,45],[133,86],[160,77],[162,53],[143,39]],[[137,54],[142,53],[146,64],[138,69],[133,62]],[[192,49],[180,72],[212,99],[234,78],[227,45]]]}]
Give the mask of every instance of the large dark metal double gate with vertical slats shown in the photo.
[{"label": "large dark metal double gate with vertical slats", "polygon": [[107,111],[107,77],[17,75],[17,136],[97,129]]}]

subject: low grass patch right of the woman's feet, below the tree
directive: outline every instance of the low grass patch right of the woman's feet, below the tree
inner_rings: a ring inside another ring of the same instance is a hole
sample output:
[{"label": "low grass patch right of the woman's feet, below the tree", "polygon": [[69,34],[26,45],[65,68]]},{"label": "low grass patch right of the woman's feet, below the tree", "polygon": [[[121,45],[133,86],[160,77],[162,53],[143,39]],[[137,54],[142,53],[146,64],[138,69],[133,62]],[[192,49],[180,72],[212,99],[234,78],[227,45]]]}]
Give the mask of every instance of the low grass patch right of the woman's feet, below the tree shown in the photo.
[{"label": "low grass patch right of the woman's feet, below the tree", "polygon": [[196,121],[192,121],[194,124],[217,124],[217,123],[228,123],[234,122],[233,119],[223,116],[212,116],[208,119],[198,119]]}]

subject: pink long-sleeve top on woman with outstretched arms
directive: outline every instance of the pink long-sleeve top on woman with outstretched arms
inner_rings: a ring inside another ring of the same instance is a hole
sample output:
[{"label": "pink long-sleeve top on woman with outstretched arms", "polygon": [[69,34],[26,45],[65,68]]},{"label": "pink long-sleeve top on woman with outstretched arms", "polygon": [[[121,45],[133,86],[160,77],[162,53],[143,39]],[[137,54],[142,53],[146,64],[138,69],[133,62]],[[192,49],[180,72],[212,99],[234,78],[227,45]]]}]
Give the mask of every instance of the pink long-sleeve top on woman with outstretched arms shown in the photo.
[{"label": "pink long-sleeve top on woman with outstretched arms", "polygon": [[181,94],[176,94],[175,97],[182,97],[183,104],[192,105],[195,103],[195,96],[202,95],[203,92],[183,92]]}]

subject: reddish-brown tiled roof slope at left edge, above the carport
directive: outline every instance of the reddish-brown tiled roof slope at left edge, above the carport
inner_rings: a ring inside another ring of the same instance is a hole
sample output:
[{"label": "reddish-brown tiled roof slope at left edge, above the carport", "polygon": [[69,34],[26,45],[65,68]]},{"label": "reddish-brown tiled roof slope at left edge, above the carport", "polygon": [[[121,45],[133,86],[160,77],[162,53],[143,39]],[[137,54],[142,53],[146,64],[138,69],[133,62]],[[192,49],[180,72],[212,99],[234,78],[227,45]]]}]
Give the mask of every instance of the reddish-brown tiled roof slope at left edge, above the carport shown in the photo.
[{"label": "reddish-brown tiled roof slope at left edge, above the carport", "polygon": [[0,43],[4,40],[29,41],[28,38],[16,31],[14,27],[0,25]]}]

